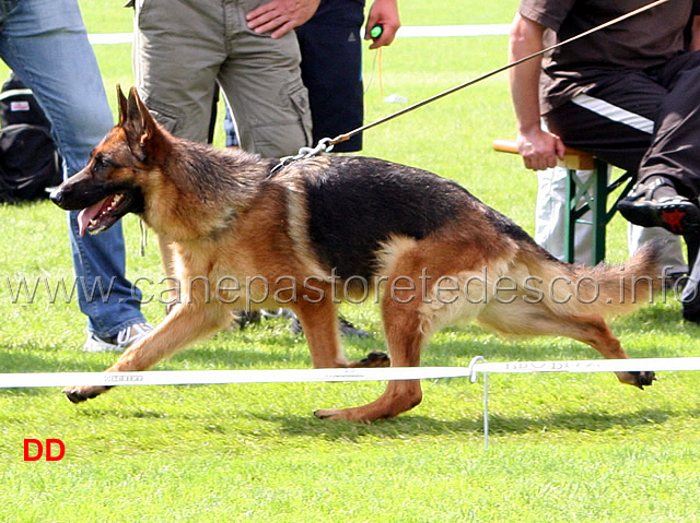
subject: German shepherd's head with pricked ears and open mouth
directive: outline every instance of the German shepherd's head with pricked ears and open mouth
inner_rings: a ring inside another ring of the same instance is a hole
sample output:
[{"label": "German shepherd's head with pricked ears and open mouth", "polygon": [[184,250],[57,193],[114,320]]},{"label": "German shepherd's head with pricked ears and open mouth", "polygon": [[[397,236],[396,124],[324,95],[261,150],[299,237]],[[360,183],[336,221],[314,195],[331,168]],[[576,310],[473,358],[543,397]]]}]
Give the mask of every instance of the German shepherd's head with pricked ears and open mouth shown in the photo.
[{"label": "German shepherd's head with pricked ears and open mouth", "polygon": [[[119,123],[100,142],[88,165],[57,187],[50,199],[67,211],[81,211],[81,236],[100,234],[127,213],[143,213],[144,190],[158,169],[153,151],[159,128],[135,87],[127,99],[117,85]],[[160,155],[159,155],[160,156]]]}]

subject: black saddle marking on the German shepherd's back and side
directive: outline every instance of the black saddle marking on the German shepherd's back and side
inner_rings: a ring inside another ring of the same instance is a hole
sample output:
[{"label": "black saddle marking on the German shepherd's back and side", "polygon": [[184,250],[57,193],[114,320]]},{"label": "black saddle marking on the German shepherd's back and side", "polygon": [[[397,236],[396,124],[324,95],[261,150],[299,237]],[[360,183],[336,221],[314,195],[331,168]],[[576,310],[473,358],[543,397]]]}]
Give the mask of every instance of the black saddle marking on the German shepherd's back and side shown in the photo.
[{"label": "black saddle marking on the German shepherd's back and side", "polygon": [[392,235],[422,239],[478,202],[432,173],[375,158],[335,157],[306,180],[310,236],[318,258],[342,278],[370,278]]}]

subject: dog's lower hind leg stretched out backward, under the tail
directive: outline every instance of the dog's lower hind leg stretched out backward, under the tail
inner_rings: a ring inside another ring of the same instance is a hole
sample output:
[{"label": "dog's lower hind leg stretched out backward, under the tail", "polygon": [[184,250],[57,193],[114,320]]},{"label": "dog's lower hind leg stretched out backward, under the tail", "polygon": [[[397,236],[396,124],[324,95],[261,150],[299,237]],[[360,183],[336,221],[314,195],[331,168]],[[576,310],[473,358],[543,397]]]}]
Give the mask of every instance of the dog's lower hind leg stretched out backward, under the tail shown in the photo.
[{"label": "dog's lower hind leg stretched out backward, under the tail", "polygon": [[[478,318],[483,326],[503,334],[567,336],[595,348],[607,359],[629,356],[599,314],[557,316],[541,304],[489,305]],[[615,372],[618,380],[643,389],[654,381],[654,372]]]}]

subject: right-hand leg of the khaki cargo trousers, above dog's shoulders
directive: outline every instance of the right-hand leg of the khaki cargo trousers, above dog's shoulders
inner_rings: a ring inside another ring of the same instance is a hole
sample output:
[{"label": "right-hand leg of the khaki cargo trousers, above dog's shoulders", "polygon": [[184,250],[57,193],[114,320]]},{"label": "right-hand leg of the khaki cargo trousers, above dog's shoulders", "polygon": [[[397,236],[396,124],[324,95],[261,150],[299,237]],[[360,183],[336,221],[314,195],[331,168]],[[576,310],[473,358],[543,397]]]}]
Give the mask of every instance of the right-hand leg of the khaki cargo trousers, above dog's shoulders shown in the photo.
[{"label": "right-hand leg of the khaki cargo trousers, above dog's shoulders", "polygon": [[248,29],[245,14],[260,0],[226,1],[229,57],[219,83],[243,150],[264,157],[296,154],[312,142],[308,95],[294,32],[272,39]]}]

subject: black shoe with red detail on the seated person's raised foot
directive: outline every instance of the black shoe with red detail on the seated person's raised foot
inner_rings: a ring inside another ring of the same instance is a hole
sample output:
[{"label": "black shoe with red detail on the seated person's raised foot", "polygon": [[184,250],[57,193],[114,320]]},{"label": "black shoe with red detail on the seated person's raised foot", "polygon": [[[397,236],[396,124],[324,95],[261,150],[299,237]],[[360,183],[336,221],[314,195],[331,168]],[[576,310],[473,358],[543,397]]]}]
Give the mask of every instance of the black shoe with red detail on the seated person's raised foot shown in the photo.
[{"label": "black shoe with red detail on the seated person's raised foot", "polygon": [[700,230],[700,207],[662,177],[639,183],[617,209],[628,222],[642,227],[663,227],[675,235]]}]

